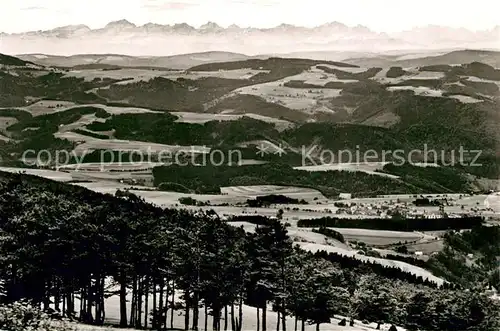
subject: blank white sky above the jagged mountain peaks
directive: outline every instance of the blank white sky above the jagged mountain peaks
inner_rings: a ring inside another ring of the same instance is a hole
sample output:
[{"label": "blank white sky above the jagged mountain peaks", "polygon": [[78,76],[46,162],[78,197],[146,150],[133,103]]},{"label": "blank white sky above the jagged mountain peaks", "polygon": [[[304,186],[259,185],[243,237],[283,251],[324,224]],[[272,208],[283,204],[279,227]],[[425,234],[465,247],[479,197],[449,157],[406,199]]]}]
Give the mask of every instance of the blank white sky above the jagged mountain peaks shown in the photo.
[{"label": "blank white sky above the jagged mountain peaks", "polygon": [[486,30],[500,25],[498,0],[1,0],[0,31],[16,33],[127,19],[142,25],[207,21],[223,27],[313,27],[327,22],[398,32],[425,25]]}]

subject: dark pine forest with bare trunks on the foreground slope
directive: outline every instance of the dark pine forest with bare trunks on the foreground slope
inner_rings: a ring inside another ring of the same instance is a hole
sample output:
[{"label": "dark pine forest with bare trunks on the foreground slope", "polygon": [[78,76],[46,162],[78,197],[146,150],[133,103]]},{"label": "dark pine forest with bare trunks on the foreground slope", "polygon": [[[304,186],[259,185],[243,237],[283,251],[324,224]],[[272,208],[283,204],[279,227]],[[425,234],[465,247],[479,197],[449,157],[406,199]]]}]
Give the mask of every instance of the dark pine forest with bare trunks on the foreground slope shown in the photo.
[{"label": "dark pine forest with bare trunks on the foreground slope", "polygon": [[[126,192],[113,197],[5,173],[0,183],[4,302],[27,298],[48,308],[54,300],[60,314],[76,312],[86,323],[102,324],[110,294],[105,283],[111,280],[120,297],[121,326],[160,329],[166,314],[194,310],[194,316],[186,314],[185,329],[201,328],[200,314],[211,312],[220,330],[226,309],[243,304],[262,311],[263,330],[268,305],[278,320],[296,318],[318,328],[333,315],[410,330],[500,326],[498,302],[481,287],[435,288],[358,268],[359,263],[338,264],[328,255],[294,248],[278,221],[246,234],[215,213],[163,210]],[[174,305],[173,291],[184,300]],[[148,320],[142,310],[150,296],[159,300],[145,307]],[[203,312],[201,305],[208,309]],[[239,309],[232,329],[241,331],[244,318]]]}]

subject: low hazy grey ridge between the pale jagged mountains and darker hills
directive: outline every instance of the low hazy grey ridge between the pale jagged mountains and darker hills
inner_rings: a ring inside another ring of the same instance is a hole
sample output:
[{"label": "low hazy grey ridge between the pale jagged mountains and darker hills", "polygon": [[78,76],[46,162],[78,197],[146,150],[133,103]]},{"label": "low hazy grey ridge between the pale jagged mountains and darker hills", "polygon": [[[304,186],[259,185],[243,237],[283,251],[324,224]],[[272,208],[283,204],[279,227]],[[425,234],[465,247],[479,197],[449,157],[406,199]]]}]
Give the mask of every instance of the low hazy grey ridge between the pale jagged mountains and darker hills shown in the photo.
[{"label": "low hazy grey ridge between the pale jagged mountains and darker hills", "polygon": [[75,67],[75,69],[80,69],[81,66],[86,68],[89,68],[88,66],[94,66],[94,68],[116,66],[184,70],[207,63],[268,59],[270,57],[341,61],[366,68],[389,68],[392,66],[404,68],[430,65],[458,65],[476,61],[488,64],[495,68],[500,68],[500,52],[474,49],[452,51],[440,50],[439,52],[400,52],[399,54],[333,51],[293,52],[285,54],[262,54],[249,56],[241,53],[210,51],[171,56],[130,56],[122,54],[77,54],[71,56],[57,56],[36,53],[21,54],[17,55],[17,57],[24,61],[29,61],[38,65],[65,68]]}]

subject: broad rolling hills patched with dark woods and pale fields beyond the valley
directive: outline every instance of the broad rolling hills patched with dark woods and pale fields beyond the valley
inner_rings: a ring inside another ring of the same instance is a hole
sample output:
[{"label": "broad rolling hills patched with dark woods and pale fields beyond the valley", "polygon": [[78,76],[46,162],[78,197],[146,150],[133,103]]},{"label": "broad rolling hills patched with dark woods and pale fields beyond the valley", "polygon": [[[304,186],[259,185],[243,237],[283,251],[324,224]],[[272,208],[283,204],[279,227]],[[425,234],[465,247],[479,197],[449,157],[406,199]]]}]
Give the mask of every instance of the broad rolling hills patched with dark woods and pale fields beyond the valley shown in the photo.
[{"label": "broad rolling hills patched with dark woods and pale fields beyond the valley", "polygon": [[[313,164],[324,161],[323,151],[375,150],[379,154],[374,162],[394,162],[394,154],[382,159],[381,152],[395,150],[419,150],[412,158],[420,162],[424,146],[482,151],[485,167],[453,167],[459,174],[474,174],[467,180],[470,185],[447,187],[439,180],[414,180],[406,174],[402,184],[395,178],[401,174],[391,173],[395,177],[382,184],[365,174],[356,180],[363,183],[359,187],[366,194],[377,191],[370,190],[375,182],[397,193],[477,189],[476,176],[496,179],[500,174],[496,161],[500,74],[477,61],[403,69],[268,58],[204,63],[178,71],[103,63],[66,69],[10,64],[0,73],[3,154],[9,162],[27,148],[120,149],[127,141],[157,148],[239,148],[253,159],[264,142],[282,146],[287,154],[266,155],[263,161],[289,166],[306,165],[301,149],[313,146],[311,160],[305,160]],[[184,119],[185,114],[203,114],[205,120],[183,120],[170,112],[183,114]],[[224,116],[231,119],[218,120]],[[281,122],[286,127],[278,128]],[[436,158],[449,161],[453,156]],[[466,161],[473,158],[465,156]],[[343,157],[339,161],[350,162]],[[270,178],[266,176],[249,182],[266,184]],[[296,184],[317,185],[304,178]],[[342,191],[325,189],[330,194]]]}]

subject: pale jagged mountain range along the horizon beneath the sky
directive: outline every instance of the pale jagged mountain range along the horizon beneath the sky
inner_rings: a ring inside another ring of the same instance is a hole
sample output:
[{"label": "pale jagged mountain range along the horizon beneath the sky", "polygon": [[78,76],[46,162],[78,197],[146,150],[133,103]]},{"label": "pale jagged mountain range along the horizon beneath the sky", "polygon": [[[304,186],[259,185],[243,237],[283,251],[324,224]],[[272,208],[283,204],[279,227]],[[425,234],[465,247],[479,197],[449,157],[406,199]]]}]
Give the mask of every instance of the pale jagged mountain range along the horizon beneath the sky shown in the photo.
[{"label": "pale jagged mountain range along the horizon beneath the sky", "polygon": [[3,53],[45,53],[53,55],[124,54],[168,56],[207,51],[247,55],[350,51],[387,52],[394,50],[437,50],[452,48],[495,49],[500,26],[484,31],[425,26],[397,33],[375,32],[357,25],[331,22],[313,28],[281,24],[274,28],[231,25],[227,28],[207,22],[199,28],[187,23],[141,26],[127,20],[103,28],[69,25],[45,31],[0,33]]}]

